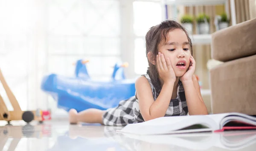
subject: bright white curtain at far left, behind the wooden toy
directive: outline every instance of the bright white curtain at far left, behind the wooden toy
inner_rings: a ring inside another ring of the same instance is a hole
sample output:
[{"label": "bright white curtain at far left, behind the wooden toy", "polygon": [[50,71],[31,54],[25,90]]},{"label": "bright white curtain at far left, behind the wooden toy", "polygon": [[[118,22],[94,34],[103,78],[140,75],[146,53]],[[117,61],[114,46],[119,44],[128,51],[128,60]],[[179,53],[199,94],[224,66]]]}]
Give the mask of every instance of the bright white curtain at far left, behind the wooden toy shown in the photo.
[{"label": "bright white curtain at far left, behind the wooden toy", "polygon": [[[45,72],[44,0],[0,0],[0,68],[22,110],[47,108],[40,80]],[[1,85],[9,110],[12,106]]]}]

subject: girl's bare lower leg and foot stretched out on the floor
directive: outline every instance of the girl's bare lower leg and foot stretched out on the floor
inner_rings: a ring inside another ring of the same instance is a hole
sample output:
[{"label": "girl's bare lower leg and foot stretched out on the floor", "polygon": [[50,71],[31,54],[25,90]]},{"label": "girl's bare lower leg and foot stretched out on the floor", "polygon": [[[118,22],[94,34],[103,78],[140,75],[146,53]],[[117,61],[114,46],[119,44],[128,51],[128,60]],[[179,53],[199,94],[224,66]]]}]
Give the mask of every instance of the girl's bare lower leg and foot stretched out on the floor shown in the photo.
[{"label": "girl's bare lower leg and foot stretched out on the floor", "polygon": [[102,122],[103,113],[105,113],[104,110],[99,110],[95,108],[83,110],[79,113],[77,113],[75,109],[71,109],[69,111],[69,122],[71,124],[76,124],[78,122],[103,124]]}]

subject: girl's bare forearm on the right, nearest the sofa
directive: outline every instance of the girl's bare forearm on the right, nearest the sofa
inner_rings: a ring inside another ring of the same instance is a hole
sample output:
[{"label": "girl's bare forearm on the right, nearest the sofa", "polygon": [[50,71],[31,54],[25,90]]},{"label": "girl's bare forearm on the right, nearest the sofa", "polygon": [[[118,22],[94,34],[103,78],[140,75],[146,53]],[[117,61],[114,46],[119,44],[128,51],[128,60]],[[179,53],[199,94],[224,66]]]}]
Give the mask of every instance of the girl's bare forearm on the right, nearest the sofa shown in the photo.
[{"label": "girl's bare forearm on the right, nearest the sofa", "polygon": [[192,77],[191,81],[184,82],[183,87],[189,109],[189,115],[208,114],[207,108],[201,96],[198,80],[195,75]]}]

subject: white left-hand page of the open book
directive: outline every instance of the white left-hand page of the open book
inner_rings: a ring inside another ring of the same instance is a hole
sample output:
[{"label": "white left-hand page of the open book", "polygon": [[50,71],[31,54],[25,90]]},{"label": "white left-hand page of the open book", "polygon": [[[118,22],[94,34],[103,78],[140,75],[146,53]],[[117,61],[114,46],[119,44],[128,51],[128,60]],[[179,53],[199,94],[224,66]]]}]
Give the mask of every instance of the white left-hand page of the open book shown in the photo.
[{"label": "white left-hand page of the open book", "polygon": [[[142,123],[129,124],[118,132],[141,135],[171,134],[174,133],[172,131],[179,131],[183,128],[197,124],[208,127],[208,129],[206,128],[204,131],[212,131],[212,127],[217,126],[212,119],[207,118],[206,116],[168,116]],[[195,128],[193,132],[201,131],[200,129],[202,128]],[[192,130],[190,131],[192,132]],[[190,131],[186,130],[184,133]]]}]

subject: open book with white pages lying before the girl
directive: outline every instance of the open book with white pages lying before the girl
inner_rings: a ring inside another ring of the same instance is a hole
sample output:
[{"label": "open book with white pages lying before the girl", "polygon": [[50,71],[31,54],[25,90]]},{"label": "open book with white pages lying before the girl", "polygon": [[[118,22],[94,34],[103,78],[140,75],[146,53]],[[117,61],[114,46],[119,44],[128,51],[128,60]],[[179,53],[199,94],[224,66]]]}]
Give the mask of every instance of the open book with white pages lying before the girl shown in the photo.
[{"label": "open book with white pages lying before the girl", "polygon": [[256,117],[242,113],[166,116],[142,123],[128,124],[117,132],[154,135],[241,129],[256,129]]}]

